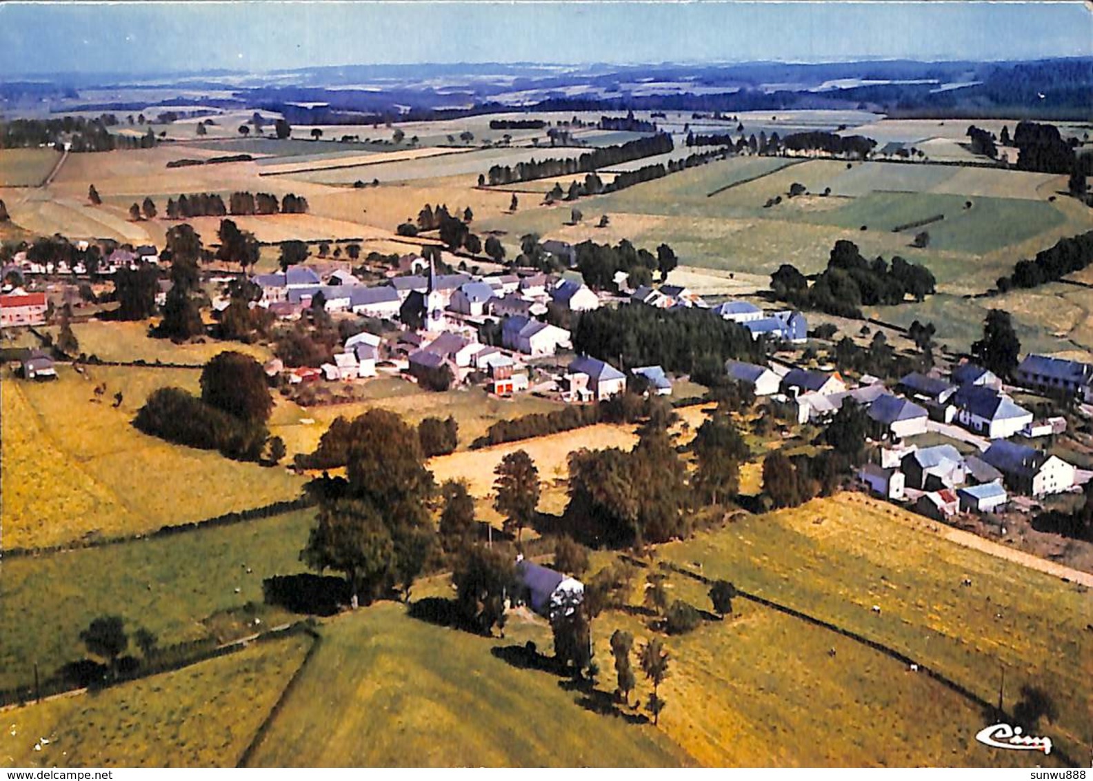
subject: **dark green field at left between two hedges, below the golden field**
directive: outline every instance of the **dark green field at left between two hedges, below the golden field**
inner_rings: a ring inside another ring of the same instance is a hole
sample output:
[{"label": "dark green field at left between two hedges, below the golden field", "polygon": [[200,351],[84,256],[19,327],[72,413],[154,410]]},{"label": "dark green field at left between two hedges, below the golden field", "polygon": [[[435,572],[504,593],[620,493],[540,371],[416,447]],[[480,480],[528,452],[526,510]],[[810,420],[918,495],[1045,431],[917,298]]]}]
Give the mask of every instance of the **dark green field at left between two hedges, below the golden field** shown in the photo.
[{"label": "dark green field at left between two hedges, below the golden field", "polygon": [[[221,619],[205,623],[248,602],[259,606],[262,625],[274,626],[286,615],[262,605],[262,579],[304,571],[299,550],[313,518],[314,512],[298,511],[5,560],[0,579],[0,689],[33,681],[35,663],[48,678],[61,665],[82,658],[86,651],[80,631],[103,615],[120,615],[130,631],[152,630],[161,645],[222,631],[228,637],[219,637],[221,641],[257,631]],[[49,609],[42,609],[44,599]],[[26,623],[30,615],[36,616],[33,631]]]}]

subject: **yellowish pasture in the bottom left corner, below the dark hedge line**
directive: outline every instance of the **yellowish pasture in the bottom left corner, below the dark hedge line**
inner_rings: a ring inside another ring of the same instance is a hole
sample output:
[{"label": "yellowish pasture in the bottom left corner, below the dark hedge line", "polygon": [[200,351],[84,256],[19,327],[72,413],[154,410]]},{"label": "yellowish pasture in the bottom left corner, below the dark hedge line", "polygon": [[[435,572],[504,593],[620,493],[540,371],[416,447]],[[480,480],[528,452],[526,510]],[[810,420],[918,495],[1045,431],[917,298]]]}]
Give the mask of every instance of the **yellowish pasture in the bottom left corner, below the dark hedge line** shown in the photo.
[{"label": "yellowish pasture in the bottom left corner, below the dark hedge line", "polygon": [[0,763],[234,767],[310,642],[295,636],[258,643],[96,693],[4,711]]}]

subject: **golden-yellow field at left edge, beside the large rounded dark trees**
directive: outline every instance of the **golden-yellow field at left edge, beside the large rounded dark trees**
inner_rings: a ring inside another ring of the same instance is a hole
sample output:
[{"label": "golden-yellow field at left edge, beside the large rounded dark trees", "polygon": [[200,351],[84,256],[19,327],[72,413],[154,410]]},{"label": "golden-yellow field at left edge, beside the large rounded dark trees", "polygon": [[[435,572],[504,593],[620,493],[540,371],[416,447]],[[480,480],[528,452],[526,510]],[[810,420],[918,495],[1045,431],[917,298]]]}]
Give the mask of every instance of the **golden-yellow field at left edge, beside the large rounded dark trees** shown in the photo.
[{"label": "golden-yellow field at left edge, beside the large rounded dark trees", "polygon": [[[60,366],[50,383],[2,383],[3,546],[113,537],[261,506],[298,496],[275,467],[172,445],[131,421],[156,387],[197,391],[197,370]],[[93,388],[106,385],[101,400]],[[113,406],[121,393],[120,407]],[[210,490],[195,491],[195,486]]]}]

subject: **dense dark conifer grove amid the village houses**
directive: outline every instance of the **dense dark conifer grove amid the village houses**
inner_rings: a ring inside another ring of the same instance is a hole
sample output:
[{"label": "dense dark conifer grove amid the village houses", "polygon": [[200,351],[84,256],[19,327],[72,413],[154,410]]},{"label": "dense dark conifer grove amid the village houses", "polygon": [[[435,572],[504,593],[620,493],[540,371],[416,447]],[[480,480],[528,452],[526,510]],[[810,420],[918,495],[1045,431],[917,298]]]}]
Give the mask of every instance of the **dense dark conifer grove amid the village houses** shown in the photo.
[{"label": "dense dark conifer grove amid the village houses", "polygon": [[724,371],[727,360],[755,361],[763,352],[742,325],[705,310],[638,305],[583,312],[573,347],[578,353],[621,362],[620,369],[660,365],[678,374],[710,371],[710,366]]}]

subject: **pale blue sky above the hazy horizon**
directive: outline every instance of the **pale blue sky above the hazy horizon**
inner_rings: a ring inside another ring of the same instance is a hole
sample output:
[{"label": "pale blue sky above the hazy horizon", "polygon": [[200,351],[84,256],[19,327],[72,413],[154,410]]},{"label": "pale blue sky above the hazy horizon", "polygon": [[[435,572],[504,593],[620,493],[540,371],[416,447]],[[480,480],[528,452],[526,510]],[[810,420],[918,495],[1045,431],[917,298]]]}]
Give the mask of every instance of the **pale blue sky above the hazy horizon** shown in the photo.
[{"label": "pale blue sky above the hazy horizon", "polygon": [[0,4],[0,82],[407,62],[998,60],[1093,55],[1082,2]]}]

